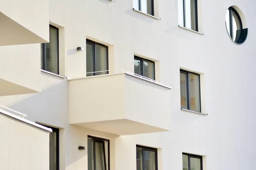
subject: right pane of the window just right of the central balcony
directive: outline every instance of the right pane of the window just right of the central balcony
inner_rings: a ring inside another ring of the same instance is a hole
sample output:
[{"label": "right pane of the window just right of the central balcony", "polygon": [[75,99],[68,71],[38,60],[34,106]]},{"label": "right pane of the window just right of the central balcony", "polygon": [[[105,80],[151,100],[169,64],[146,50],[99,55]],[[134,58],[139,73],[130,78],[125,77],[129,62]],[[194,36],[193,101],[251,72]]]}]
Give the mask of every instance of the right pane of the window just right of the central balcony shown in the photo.
[{"label": "right pane of the window just right of the central balcony", "polygon": [[200,112],[200,84],[199,75],[189,73],[189,109]]}]

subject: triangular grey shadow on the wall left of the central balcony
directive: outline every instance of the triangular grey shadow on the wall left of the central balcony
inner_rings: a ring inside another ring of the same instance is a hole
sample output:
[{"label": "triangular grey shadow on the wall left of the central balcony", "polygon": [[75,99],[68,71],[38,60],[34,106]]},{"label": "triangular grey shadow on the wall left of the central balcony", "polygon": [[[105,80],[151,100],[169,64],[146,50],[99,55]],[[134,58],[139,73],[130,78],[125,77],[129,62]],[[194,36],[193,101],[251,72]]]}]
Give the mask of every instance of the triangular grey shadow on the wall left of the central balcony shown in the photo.
[{"label": "triangular grey shadow on the wall left of the central balcony", "polygon": [[64,127],[68,121],[68,80],[55,83],[41,93],[12,102],[9,108],[28,115],[26,119],[46,125]]}]

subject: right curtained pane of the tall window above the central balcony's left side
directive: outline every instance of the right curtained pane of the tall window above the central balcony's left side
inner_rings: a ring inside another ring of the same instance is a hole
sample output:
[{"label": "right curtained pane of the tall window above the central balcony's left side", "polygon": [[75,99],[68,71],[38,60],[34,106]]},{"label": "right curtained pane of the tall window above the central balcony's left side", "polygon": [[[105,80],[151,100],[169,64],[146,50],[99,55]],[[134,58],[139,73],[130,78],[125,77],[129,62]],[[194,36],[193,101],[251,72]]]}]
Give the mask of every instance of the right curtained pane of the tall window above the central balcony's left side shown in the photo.
[{"label": "right curtained pane of the tall window above the central balcony's left side", "polygon": [[107,48],[101,45],[95,45],[95,70],[94,71],[104,71],[95,73],[95,75],[108,74],[108,57],[107,57]]}]

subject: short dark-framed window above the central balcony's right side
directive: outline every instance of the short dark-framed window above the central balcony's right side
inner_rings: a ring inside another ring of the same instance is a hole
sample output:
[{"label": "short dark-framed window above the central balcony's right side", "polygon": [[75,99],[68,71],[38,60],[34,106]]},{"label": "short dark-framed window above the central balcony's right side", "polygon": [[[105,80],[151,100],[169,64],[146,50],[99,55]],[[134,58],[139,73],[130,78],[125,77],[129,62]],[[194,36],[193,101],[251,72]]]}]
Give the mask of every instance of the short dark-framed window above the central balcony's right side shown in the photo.
[{"label": "short dark-framed window above the central balcony's right side", "polygon": [[134,56],[134,73],[149,79],[155,79],[154,62]]}]

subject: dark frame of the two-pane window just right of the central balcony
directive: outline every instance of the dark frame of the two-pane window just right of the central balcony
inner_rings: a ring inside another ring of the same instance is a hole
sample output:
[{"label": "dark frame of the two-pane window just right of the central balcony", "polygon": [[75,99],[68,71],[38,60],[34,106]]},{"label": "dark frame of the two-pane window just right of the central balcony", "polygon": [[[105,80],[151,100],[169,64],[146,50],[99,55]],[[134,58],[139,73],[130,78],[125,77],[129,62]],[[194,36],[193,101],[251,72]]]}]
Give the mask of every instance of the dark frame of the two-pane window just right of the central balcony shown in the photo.
[{"label": "dark frame of the two-pane window just right of the central balcony", "polygon": [[181,70],[181,69],[180,69],[180,73],[186,74],[186,87],[187,87],[187,89],[186,89],[187,101],[186,102],[187,102],[188,108],[183,108],[183,109],[187,109],[189,111],[192,111],[190,109],[190,97],[189,97],[189,73],[190,74],[196,74],[196,75],[199,76],[199,106],[200,106],[199,113],[201,113],[202,108],[201,108],[201,77],[200,77],[200,74],[197,74],[197,73],[194,73],[194,72],[191,72],[191,71]]}]

